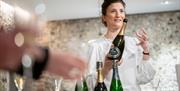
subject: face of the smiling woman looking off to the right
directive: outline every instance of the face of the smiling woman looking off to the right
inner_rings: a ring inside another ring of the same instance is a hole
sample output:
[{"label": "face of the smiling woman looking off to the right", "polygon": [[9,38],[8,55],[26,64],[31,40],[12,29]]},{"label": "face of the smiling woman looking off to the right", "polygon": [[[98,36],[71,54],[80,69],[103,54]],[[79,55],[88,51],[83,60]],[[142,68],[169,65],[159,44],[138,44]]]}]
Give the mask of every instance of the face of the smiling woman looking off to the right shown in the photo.
[{"label": "face of the smiling woman looking off to the right", "polygon": [[124,6],[120,2],[112,3],[106,10],[103,20],[107,23],[107,27],[111,29],[121,29],[123,20],[125,19]]}]

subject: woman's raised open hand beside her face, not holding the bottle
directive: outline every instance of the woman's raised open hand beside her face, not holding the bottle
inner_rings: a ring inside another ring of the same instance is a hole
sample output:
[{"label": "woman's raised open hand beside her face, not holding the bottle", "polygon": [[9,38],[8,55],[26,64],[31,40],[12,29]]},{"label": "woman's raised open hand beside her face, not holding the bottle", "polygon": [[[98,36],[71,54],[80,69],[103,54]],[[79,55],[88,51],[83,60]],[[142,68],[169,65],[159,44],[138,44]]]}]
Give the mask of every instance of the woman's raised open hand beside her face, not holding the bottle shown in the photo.
[{"label": "woman's raised open hand beside her face, not holding the bottle", "polygon": [[137,45],[140,45],[143,48],[144,53],[149,53],[148,35],[144,28],[142,28],[140,31],[137,31],[135,34],[137,39],[140,41]]}]

